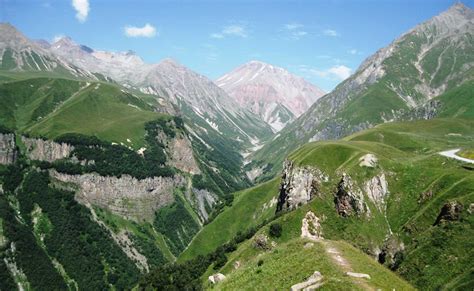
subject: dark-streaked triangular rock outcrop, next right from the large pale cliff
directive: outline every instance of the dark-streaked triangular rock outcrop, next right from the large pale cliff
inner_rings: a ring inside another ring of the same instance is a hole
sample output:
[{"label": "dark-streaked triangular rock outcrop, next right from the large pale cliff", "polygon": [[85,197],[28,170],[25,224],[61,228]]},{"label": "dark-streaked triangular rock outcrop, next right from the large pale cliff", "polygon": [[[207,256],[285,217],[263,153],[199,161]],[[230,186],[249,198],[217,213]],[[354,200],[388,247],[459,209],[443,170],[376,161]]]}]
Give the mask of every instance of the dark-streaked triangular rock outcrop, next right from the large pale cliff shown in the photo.
[{"label": "dark-streaked triangular rock outcrop, next right from the large pale cliff", "polygon": [[364,213],[370,216],[370,210],[364,202],[362,191],[346,173],[342,175],[341,181],[337,186],[334,203],[336,204],[337,213],[341,216],[347,217]]}]

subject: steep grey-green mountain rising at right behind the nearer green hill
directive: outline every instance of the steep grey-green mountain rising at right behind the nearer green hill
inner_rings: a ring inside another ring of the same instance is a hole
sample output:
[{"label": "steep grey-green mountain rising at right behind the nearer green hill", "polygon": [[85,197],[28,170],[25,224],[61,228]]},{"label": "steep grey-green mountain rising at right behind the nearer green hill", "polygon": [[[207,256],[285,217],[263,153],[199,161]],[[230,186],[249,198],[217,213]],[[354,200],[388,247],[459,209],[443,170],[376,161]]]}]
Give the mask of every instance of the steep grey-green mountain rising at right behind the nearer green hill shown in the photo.
[{"label": "steep grey-green mountain rising at right behind the nearer green hill", "polygon": [[472,116],[469,111],[457,112],[461,103],[437,97],[469,86],[474,79],[473,15],[470,8],[455,4],[377,51],[250,156],[255,162],[248,169],[265,169],[271,176],[276,171],[270,168],[280,169],[284,157],[308,141],[337,139],[383,122],[432,118],[448,111],[452,116]]}]

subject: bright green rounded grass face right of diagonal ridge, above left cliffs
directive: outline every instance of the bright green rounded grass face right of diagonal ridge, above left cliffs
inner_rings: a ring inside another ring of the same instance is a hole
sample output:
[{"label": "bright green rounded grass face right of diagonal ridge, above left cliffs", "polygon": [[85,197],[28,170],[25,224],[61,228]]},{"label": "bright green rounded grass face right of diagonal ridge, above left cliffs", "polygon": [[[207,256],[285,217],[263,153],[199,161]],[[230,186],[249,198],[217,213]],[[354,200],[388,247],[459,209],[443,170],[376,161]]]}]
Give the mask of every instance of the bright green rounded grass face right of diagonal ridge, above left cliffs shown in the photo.
[{"label": "bright green rounded grass face right of diagonal ridge, above left cliffs", "polygon": [[94,83],[25,131],[48,138],[71,132],[94,135],[138,149],[145,143],[144,124],[160,116],[117,87]]}]

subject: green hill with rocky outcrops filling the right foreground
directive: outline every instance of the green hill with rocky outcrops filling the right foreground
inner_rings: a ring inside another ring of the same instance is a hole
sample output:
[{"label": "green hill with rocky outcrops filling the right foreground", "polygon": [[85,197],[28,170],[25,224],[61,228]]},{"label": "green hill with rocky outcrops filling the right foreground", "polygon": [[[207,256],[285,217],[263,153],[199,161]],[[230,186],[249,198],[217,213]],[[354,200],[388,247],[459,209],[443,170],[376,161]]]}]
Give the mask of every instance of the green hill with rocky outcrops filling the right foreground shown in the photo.
[{"label": "green hill with rocky outcrops filling the right foreground", "polygon": [[[207,281],[224,274],[217,285],[223,289],[265,282],[289,287],[315,271],[327,287],[351,271],[368,274],[362,281],[372,287],[412,288],[388,279],[393,274],[380,265],[419,289],[469,289],[472,165],[439,152],[472,148],[473,129],[472,118],[394,122],[308,143],[288,157],[279,177],[236,193],[232,206],[197,234],[178,262],[190,264],[209,253],[221,258],[224,250],[225,259],[212,261],[200,276]],[[346,262],[336,264],[335,272],[325,269],[334,263],[331,254]]]}]

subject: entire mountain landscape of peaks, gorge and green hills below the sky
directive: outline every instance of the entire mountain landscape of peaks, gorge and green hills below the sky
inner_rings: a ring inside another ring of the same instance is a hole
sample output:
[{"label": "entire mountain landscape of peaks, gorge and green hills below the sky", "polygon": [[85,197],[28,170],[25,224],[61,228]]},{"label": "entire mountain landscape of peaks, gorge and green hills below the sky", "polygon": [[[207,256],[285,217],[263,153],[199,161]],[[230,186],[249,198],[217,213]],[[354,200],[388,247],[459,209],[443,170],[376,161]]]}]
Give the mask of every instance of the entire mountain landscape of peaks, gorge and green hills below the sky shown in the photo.
[{"label": "entire mountain landscape of peaks, gorge and green hills below the sky", "polygon": [[456,3],[326,94],[0,24],[0,289],[472,289],[473,51]]}]

